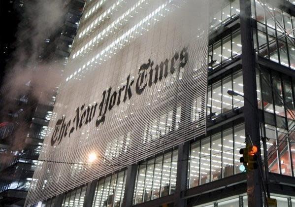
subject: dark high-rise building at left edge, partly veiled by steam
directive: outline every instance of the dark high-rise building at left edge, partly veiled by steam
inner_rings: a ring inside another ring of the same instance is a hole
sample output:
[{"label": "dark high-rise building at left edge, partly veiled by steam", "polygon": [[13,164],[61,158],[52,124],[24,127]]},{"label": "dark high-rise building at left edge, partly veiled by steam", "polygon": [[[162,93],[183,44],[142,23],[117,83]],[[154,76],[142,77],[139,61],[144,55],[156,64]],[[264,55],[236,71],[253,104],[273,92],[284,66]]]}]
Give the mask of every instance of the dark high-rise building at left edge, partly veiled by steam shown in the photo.
[{"label": "dark high-rise building at left edge, partly veiled by steam", "polygon": [[[36,34],[34,18],[32,18],[36,16],[37,2],[7,1],[10,6],[8,12],[12,13],[10,16],[17,19],[19,24],[16,37],[10,34],[12,36],[10,38],[15,38],[15,42],[10,41],[10,44],[3,45],[4,52],[9,50],[15,52],[11,52],[10,57],[6,58],[8,62],[5,70],[6,79],[0,88],[1,207],[24,206],[28,190],[32,187],[36,160],[48,132],[48,123],[59,86],[51,85],[46,90],[36,89],[34,87],[37,86],[33,82],[39,80],[36,80],[36,76],[33,75],[26,76],[26,71],[34,70],[34,72],[46,74],[44,71],[52,70],[51,65],[54,64],[54,67],[59,68],[57,74],[63,75],[84,3],[84,0],[70,0],[63,4],[64,13],[60,20],[62,23],[56,25],[53,32],[42,36]],[[37,35],[41,38],[34,40],[32,36]],[[32,49],[36,46],[33,44],[36,43],[39,46],[38,50]],[[17,62],[15,59],[20,56],[19,51],[22,49],[30,51],[27,55],[30,58]],[[10,71],[13,70],[13,63],[17,65],[15,68],[20,68],[14,69],[14,73]],[[44,78],[40,79],[44,80]],[[16,86],[17,93],[11,93]]]}]

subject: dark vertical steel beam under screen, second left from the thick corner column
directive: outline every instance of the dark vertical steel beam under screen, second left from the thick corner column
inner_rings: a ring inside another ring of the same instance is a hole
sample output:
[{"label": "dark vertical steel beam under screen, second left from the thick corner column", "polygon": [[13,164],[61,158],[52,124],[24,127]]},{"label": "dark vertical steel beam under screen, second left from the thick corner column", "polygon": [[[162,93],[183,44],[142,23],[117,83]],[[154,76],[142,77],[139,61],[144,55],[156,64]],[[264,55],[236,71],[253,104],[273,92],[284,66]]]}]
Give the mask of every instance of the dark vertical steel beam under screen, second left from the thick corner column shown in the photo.
[{"label": "dark vertical steel beam under screen, second left from the thick corner column", "polygon": [[126,184],[125,184],[122,207],[132,206],[133,192],[134,192],[135,181],[136,181],[136,171],[137,171],[137,165],[131,165],[131,166],[128,166],[127,168]]}]

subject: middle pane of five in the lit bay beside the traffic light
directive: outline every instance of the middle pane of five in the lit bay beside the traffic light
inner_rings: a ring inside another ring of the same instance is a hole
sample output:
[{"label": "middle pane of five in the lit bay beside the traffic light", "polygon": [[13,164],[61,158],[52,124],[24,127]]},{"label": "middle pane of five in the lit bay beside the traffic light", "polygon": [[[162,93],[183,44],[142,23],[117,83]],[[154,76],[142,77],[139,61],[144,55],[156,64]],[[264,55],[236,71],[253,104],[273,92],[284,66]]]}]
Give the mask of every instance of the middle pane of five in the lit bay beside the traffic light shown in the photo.
[{"label": "middle pane of five in the lit bay beside the traffic light", "polygon": [[212,136],[211,144],[211,181],[221,179],[222,169],[222,145],[221,133]]}]

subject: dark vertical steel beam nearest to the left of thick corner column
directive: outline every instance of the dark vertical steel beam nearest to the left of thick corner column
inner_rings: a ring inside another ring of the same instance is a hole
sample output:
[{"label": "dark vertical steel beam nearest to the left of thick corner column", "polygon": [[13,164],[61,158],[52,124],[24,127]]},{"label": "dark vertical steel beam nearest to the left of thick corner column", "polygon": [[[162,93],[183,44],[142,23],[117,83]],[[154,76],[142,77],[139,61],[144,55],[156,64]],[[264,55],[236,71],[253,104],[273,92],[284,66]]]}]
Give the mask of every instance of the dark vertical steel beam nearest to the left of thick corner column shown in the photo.
[{"label": "dark vertical steel beam nearest to the left of thick corner column", "polygon": [[185,207],[186,200],[182,199],[182,192],[186,190],[187,187],[187,175],[188,175],[188,159],[190,152],[189,141],[184,144],[178,145],[178,162],[177,162],[177,173],[176,173],[176,186],[175,186],[175,207]]}]

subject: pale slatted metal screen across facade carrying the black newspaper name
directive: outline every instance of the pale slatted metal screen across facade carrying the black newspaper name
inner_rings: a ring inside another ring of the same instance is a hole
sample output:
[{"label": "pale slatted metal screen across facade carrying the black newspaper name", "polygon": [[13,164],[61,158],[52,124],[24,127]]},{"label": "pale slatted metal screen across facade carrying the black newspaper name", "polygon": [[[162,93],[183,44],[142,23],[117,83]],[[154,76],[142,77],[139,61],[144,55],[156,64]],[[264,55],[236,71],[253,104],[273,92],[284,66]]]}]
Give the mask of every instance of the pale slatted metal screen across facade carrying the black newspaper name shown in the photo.
[{"label": "pale slatted metal screen across facade carrying the black newspaper name", "polygon": [[117,1],[80,24],[26,205],[205,133],[207,0]]}]

